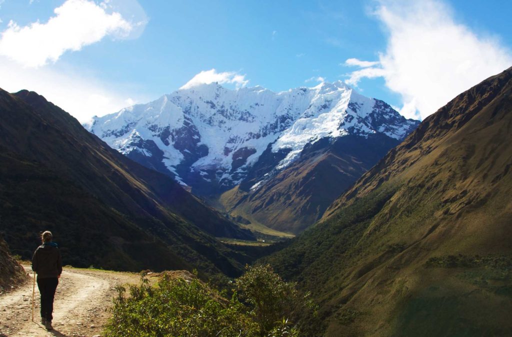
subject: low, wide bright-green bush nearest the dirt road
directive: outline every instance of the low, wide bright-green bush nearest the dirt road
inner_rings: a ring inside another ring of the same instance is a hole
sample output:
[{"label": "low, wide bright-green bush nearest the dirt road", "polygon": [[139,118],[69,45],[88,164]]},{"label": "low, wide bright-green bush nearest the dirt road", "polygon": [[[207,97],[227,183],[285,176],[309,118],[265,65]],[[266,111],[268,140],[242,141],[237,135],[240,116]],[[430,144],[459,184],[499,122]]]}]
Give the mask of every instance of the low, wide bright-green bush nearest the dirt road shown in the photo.
[{"label": "low, wide bright-green bush nearest the dirt road", "polygon": [[117,288],[114,316],[107,336],[238,336],[253,335],[255,324],[236,295],[224,300],[197,279],[165,275],[156,287],[144,280],[130,286],[130,296]]}]

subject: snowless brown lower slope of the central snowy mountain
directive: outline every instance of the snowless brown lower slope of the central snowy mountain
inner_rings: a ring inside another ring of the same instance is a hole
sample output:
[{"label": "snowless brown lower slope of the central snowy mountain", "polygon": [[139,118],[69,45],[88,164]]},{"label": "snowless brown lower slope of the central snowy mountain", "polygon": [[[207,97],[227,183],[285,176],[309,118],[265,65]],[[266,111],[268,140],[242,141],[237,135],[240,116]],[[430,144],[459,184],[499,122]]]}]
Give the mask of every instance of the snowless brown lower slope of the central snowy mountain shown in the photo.
[{"label": "snowless brown lower slope of the central snowy mountain", "polygon": [[282,232],[298,234],[398,141],[383,134],[326,138],[306,147],[301,158],[261,188],[242,184],[220,200],[226,212]]}]

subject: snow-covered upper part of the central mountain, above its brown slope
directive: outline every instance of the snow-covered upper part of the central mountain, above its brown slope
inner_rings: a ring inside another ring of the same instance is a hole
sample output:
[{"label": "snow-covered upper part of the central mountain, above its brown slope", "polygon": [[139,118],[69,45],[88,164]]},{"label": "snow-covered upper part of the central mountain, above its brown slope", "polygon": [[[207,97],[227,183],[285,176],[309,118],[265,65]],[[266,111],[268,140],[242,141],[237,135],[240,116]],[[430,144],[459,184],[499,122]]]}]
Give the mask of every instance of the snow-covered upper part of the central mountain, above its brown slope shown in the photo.
[{"label": "snow-covered upper part of the central mountain, above its brown slope", "polygon": [[201,194],[240,184],[267,148],[279,153],[273,163],[279,171],[319,139],[381,133],[402,140],[418,123],[341,81],[280,93],[211,83],[95,117],[88,129]]}]

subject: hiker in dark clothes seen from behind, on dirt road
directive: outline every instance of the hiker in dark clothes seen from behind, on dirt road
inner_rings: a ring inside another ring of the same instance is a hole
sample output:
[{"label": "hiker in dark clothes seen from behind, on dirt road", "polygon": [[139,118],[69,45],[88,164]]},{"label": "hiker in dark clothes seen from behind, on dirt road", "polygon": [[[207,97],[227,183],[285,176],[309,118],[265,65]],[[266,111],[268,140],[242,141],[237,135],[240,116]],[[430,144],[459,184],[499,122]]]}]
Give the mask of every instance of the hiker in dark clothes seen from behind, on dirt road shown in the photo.
[{"label": "hiker in dark clothes seen from behind, on dirt road", "polygon": [[62,260],[57,244],[52,242],[50,231],[41,234],[42,244],[32,257],[32,270],[37,273],[37,287],[41,294],[41,324],[53,330],[53,298],[62,273]]}]

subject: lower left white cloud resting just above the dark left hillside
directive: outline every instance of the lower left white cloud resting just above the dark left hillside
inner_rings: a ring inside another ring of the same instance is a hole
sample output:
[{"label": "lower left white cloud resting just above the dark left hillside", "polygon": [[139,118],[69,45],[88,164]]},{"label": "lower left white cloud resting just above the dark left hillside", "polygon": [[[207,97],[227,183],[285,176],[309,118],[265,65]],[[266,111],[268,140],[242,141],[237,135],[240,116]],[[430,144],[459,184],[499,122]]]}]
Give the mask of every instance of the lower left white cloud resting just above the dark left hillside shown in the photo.
[{"label": "lower left white cloud resting just above the dark left hillside", "polygon": [[132,97],[133,89],[123,89],[112,83],[101,83],[73,70],[53,68],[25,68],[5,57],[0,57],[0,87],[11,93],[21,89],[35,91],[68,111],[82,123],[94,115],[114,113],[123,107],[133,105],[136,101],[148,101],[148,97],[140,94],[136,98]]}]

